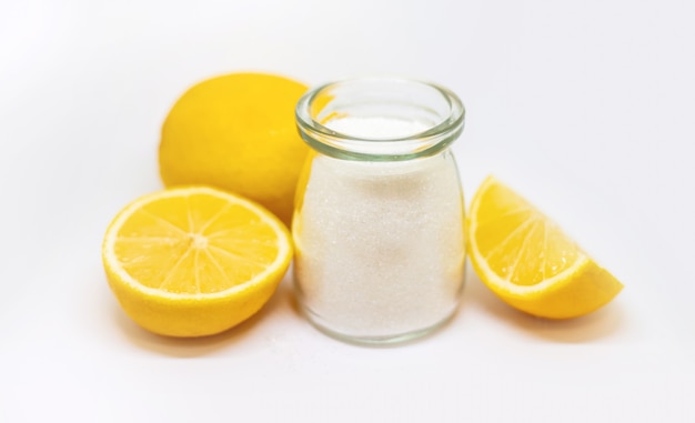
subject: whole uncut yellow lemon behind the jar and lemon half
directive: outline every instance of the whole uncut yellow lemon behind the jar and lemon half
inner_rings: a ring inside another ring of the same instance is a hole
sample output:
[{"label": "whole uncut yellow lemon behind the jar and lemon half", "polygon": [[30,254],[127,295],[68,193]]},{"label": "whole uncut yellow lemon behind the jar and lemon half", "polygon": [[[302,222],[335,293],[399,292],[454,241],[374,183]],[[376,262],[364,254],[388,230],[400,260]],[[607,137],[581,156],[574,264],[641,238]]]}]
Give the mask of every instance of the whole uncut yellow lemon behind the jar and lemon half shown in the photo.
[{"label": "whole uncut yellow lemon behind the jar and lemon half", "polygon": [[189,89],[162,127],[162,181],[235,192],[289,225],[309,152],[294,123],[295,103],[306,89],[264,73],[225,74]]}]

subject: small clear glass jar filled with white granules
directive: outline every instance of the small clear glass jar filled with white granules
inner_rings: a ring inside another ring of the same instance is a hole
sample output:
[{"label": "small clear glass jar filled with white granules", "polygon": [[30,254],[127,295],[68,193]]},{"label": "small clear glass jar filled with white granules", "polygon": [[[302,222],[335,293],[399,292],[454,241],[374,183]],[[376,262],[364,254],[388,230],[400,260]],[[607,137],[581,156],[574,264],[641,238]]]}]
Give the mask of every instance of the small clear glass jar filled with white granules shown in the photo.
[{"label": "small clear glass jar filled with white granules", "polygon": [[312,152],[292,222],[294,284],[309,320],[357,343],[424,335],[457,309],[464,203],[450,90],[363,78],[309,91],[296,121]]}]

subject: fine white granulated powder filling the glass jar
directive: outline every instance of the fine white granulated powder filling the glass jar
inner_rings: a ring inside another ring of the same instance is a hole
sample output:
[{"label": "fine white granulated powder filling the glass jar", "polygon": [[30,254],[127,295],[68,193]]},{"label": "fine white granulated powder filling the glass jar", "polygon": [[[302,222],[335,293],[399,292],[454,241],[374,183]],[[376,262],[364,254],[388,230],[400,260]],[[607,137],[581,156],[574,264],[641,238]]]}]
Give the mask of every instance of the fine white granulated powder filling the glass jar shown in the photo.
[{"label": "fine white granulated powder filling the glass jar", "polygon": [[[338,122],[331,128],[365,138],[427,128]],[[459,303],[463,218],[450,152],[401,162],[318,155],[293,228],[300,301],[316,324],[349,338],[389,339],[436,325]]]}]

